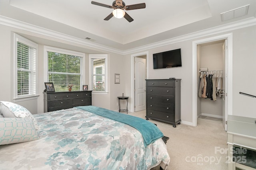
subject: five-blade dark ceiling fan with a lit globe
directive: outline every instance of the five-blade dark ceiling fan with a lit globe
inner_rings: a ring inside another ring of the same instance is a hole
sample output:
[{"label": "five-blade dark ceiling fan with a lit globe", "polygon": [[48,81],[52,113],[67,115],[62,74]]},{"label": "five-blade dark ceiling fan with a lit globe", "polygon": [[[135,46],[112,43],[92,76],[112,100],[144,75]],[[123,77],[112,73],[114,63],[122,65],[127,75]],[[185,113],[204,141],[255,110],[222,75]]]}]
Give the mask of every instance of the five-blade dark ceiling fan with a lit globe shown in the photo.
[{"label": "five-blade dark ceiling fan with a lit globe", "polygon": [[122,0],[115,0],[112,3],[112,6],[101,4],[99,2],[94,2],[94,1],[92,1],[92,4],[114,9],[114,11],[104,19],[106,21],[108,21],[110,18],[112,18],[114,16],[116,18],[124,17],[127,21],[132,22],[133,21],[132,17],[130,17],[126,12],[124,12],[124,10],[137,10],[137,9],[146,8],[145,3],[134,4],[134,5],[125,5],[125,3]]}]

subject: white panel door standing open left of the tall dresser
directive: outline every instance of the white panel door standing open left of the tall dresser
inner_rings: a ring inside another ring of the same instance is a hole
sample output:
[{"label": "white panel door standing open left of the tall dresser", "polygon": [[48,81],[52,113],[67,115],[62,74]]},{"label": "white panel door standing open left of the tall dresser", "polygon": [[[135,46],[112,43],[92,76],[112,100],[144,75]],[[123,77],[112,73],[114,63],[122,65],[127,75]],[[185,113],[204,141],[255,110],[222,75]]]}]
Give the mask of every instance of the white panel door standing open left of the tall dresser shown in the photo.
[{"label": "white panel door standing open left of the tall dresser", "polygon": [[146,109],[146,59],[135,57],[135,111]]}]

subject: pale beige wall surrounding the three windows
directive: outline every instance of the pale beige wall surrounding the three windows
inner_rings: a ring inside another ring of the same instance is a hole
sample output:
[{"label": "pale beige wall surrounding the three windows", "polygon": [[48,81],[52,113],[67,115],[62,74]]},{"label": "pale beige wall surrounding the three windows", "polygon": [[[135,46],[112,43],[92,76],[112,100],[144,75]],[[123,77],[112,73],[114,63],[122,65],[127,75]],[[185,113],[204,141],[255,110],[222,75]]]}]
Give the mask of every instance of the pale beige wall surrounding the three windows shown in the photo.
[{"label": "pale beige wall surrounding the three windows", "polygon": [[[0,101],[10,101],[20,104],[26,107],[32,114],[44,112],[44,45],[49,45],[58,48],[70,49],[86,53],[88,49],[94,51],[94,53],[106,53],[108,54],[108,94],[92,94],[92,105],[104,107],[106,109],[118,110],[116,106],[117,96],[120,96],[122,92],[127,92],[125,74],[129,69],[129,64],[124,64],[124,57],[116,53],[108,53],[106,51],[96,50],[90,47],[85,47],[80,44],[67,42],[52,37],[46,37],[30,33],[28,31],[20,30],[14,27],[9,27],[0,24],[0,71],[2,72],[0,82],[3,84],[3,88],[0,88]],[[38,43],[38,98],[26,99],[24,101],[14,101],[14,66],[13,66],[13,33],[16,32],[26,38]],[[126,62],[127,63],[127,62]],[[86,76],[84,84],[89,82],[89,58],[86,53],[85,70]],[[114,84],[114,73],[121,75],[121,83]],[[128,73],[129,74],[129,73]],[[90,86],[88,84],[88,86]],[[129,89],[129,88],[128,88]],[[128,93],[128,92],[127,92]]]}]

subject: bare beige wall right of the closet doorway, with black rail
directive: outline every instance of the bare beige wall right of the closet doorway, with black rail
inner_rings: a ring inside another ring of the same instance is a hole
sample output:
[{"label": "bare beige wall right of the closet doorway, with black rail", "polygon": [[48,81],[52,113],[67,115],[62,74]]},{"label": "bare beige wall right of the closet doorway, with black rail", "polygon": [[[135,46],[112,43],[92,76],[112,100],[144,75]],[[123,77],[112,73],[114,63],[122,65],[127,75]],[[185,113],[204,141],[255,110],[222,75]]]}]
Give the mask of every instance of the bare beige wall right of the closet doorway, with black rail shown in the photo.
[{"label": "bare beige wall right of the closet doorway, with black rail", "polygon": [[256,26],[233,31],[233,115],[256,118]]}]

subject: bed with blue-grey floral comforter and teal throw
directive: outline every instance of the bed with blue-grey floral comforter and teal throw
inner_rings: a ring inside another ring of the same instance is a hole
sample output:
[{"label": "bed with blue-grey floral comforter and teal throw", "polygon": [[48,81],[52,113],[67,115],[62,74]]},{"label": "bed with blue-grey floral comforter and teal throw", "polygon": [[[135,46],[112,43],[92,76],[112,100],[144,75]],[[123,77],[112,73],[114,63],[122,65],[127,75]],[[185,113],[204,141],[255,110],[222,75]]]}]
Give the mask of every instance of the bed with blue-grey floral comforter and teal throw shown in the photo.
[{"label": "bed with blue-grey floral comforter and teal throw", "polygon": [[[2,115],[0,123],[3,119],[28,121]],[[35,114],[33,119],[38,130],[28,142],[0,145],[1,169],[150,170],[159,164],[167,169],[170,162],[160,130],[138,117],[83,106]],[[131,125],[122,122],[132,119]],[[148,134],[152,131],[153,136]]]}]

